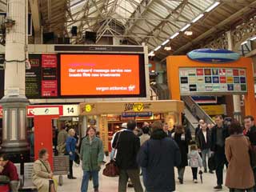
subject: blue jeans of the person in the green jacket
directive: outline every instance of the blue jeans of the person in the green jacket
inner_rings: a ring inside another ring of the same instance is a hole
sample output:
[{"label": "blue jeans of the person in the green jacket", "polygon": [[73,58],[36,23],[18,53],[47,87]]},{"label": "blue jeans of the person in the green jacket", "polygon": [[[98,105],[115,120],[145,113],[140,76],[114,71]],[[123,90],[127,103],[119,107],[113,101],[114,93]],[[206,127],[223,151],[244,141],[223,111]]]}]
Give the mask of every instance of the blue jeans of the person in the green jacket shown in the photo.
[{"label": "blue jeans of the person in the green jacket", "polygon": [[90,176],[93,178],[94,189],[98,190],[98,170],[83,171],[81,192],[87,192]]}]

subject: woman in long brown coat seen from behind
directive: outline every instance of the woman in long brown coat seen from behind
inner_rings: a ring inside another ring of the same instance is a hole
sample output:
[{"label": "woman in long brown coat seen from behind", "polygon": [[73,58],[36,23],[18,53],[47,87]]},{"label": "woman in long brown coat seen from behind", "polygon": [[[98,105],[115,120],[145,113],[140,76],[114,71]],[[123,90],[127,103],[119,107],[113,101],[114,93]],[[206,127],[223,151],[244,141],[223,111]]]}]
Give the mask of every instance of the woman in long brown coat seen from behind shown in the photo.
[{"label": "woman in long brown coat seen from behind", "polygon": [[230,192],[254,192],[254,173],[250,165],[250,141],[242,134],[239,122],[230,125],[230,137],[226,138],[225,154],[229,162],[226,186]]}]

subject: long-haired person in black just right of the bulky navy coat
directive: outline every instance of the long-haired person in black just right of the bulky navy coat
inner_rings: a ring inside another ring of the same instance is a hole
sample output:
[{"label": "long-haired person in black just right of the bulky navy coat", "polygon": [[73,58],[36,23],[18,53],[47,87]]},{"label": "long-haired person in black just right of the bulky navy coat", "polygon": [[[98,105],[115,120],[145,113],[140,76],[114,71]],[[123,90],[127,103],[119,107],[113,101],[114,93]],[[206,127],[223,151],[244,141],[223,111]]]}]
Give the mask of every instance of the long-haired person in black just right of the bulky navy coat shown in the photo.
[{"label": "long-haired person in black just right of the bulky navy coat", "polygon": [[[190,133],[190,132],[189,132]],[[177,142],[180,153],[182,155],[182,162],[177,166],[178,168],[178,180],[181,184],[183,184],[183,177],[186,166],[188,166],[187,162],[187,154],[189,152],[189,143],[190,143],[190,134],[184,129],[183,126],[176,126],[174,133],[172,134],[172,138]]]}]

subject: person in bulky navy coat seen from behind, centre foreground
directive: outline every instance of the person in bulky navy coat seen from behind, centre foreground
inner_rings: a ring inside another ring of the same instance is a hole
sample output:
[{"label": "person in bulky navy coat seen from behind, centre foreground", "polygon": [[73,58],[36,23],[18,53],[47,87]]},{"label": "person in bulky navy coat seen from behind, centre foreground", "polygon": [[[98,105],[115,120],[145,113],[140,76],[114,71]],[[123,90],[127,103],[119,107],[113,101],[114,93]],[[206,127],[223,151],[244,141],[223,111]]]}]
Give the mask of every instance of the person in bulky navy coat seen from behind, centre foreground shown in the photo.
[{"label": "person in bulky navy coat seen from behind, centre foreground", "polygon": [[150,140],[144,142],[137,157],[139,166],[142,166],[146,191],[174,191],[174,166],[181,162],[178,145],[162,130],[162,122],[154,122],[151,127]]}]

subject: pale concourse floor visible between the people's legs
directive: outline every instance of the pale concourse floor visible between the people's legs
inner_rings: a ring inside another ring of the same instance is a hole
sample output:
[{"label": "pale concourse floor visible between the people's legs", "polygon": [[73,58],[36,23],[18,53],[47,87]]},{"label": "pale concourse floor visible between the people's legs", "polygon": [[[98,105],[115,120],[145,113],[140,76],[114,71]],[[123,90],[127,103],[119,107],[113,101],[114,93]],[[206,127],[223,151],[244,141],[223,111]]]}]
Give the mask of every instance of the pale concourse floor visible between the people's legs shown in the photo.
[{"label": "pale concourse floor visible between the people's legs", "polygon": [[[102,166],[103,168],[103,166]],[[66,176],[63,176],[64,184],[63,186],[58,186],[58,191],[60,192],[80,192],[80,186],[82,183],[82,167],[73,166],[74,177],[77,179],[67,179]],[[226,168],[224,169],[224,182],[226,178]],[[177,169],[175,169],[175,177],[177,178]],[[203,183],[199,182],[194,183],[192,181],[192,172],[189,166],[186,166],[186,172],[184,175],[184,184],[180,185],[178,179],[176,179],[176,190],[175,192],[205,192],[205,191],[216,191],[214,186],[216,186],[216,175],[215,174],[202,174]],[[141,177],[142,180],[142,177]],[[100,192],[118,192],[118,177],[108,178],[102,175],[102,171],[99,173],[99,191]],[[88,192],[93,192],[93,184],[89,182]],[[127,192],[134,191],[134,188],[127,188]],[[223,186],[223,192],[228,192],[228,188]]]}]

